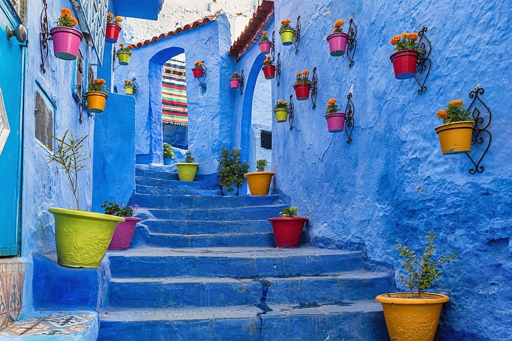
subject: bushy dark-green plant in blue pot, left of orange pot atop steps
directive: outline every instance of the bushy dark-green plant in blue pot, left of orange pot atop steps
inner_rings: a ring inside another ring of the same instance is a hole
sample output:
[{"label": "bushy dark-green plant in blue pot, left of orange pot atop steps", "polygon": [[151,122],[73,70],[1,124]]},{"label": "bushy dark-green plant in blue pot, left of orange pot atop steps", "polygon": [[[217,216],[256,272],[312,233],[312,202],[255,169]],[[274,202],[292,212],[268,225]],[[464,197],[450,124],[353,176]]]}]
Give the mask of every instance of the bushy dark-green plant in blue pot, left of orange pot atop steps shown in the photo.
[{"label": "bushy dark-green plant in blue pot, left of orange pot atop steps", "polygon": [[221,149],[221,157],[217,160],[217,172],[224,195],[238,195],[238,188],[245,181],[244,174],[247,173],[249,164],[245,160],[242,162],[240,153],[240,148]]}]

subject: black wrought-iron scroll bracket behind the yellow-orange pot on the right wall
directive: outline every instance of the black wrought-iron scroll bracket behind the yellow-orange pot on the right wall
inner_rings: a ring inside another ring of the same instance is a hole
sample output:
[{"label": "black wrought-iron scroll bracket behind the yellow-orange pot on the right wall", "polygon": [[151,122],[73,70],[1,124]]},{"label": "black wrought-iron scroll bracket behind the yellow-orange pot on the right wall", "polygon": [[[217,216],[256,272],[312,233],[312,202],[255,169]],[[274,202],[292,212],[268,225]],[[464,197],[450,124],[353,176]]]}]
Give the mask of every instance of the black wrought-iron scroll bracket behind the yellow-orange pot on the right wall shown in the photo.
[{"label": "black wrought-iron scroll bracket behind the yellow-orange pot on the right wall", "polygon": [[[471,145],[474,145],[476,143],[485,145],[485,137],[488,138],[487,147],[485,147],[485,150],[482,156],[480,156],[478,162],[475,162],[473,158],[470,156],[470,154],[465,153],[467,157],[470,159],[470,161],[473,163],[473,166],[475,167],[470,168],[470,174],[483,172],[484,167],[480,166],[480,162],[487,153],[487,150],[489,150],[490,141],[492,140],[492,135],[490,134],[490,131],[487,130],[490,124],[490,120],[492,118],[492,113],[490,112],[489,107],[485,105],[485,103],[480,98],[480,95],[483,95],[483,92],[484,89],[477,85],[475,89],[472,92],[470,92],[470,98],[473,98],[473,101],[471,102],[470,106],[467,107],[467,109],[471,111],[471,115],[475,120],[475,127],[473,128],[473,137],[471,139]],[[483,108],[480,106],[483,106]],[[483,109],[485,109],[485,111],[487,112],[485,112]],[[484,118],[482,114],[488,114],[488,118]]]}]

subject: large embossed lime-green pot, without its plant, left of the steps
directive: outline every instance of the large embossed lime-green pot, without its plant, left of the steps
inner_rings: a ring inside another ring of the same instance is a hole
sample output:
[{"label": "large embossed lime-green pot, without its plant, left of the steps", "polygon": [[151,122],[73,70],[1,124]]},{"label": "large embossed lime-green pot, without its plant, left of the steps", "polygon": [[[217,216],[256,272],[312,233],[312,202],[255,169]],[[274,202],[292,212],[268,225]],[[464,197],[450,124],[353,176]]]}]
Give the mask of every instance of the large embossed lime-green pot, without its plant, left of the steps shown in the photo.
[{"label": "large embossed lime-green pot, without its plant, left of the steps", "polygon": [[51,207],[55,218],[57,262],[62,266],[97,268],[118,223],[124,217]]}]

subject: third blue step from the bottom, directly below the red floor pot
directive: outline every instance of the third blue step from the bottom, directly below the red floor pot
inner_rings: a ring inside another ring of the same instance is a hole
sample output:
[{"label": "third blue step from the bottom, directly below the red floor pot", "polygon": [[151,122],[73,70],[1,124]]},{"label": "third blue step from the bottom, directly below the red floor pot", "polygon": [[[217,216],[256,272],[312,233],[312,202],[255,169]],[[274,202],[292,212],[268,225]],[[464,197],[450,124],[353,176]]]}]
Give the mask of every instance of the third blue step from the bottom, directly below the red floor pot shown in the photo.
[{"label": "third blue step from the bottom, directly below the red floor pot", "polygon": [[362,268],[361,251],[317,247],[141,247],[105,257],[113,278],[314,276]]}]

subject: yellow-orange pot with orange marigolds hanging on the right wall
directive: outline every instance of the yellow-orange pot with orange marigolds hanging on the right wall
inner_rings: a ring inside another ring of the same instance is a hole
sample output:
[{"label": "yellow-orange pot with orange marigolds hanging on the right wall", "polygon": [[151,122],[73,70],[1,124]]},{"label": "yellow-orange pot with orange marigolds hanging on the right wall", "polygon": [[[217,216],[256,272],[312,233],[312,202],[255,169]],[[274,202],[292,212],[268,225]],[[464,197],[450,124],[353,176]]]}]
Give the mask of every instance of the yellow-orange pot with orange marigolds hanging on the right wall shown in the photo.
[{"label": "yellow-orange pot with orange marigolds hanging on the right wall", "polygon": [[471,150],[475,122],[462,100],[446,104],[447,110],[438,110],[437,117],[443,124],[435,127],[443,154],[466,153]]}]

